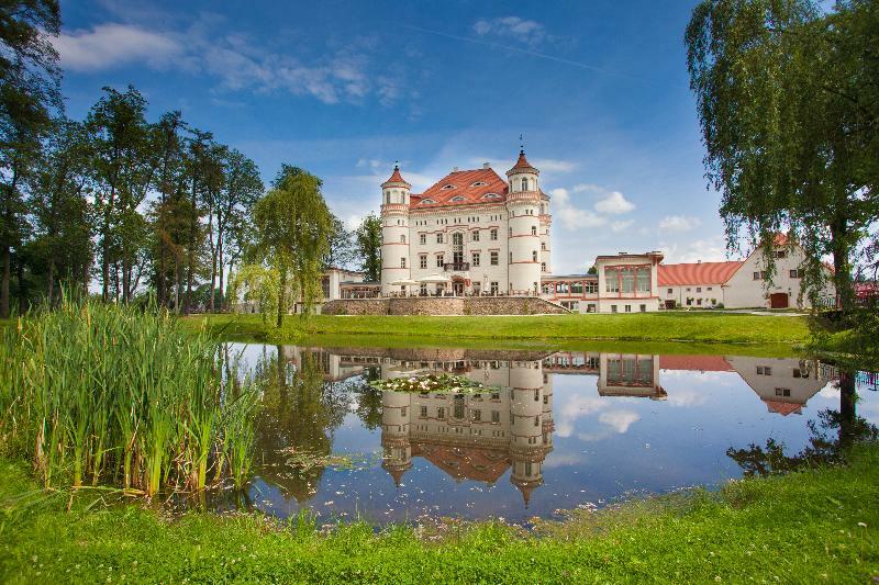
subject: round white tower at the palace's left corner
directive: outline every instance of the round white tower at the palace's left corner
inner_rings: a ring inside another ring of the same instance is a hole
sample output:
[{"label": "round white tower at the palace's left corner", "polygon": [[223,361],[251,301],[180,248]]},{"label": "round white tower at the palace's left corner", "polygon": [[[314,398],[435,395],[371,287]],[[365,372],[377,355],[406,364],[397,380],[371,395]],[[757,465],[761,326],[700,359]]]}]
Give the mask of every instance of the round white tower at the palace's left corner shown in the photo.
[{"label": "round white tower at the palace's left corner", "polygon": [[[410,280],[409,198],[412,185],[393,166],[390,179],[381,183],[381,293],[401,292],[391,282]],[[409,292],[409,291],[407,291]]]}]

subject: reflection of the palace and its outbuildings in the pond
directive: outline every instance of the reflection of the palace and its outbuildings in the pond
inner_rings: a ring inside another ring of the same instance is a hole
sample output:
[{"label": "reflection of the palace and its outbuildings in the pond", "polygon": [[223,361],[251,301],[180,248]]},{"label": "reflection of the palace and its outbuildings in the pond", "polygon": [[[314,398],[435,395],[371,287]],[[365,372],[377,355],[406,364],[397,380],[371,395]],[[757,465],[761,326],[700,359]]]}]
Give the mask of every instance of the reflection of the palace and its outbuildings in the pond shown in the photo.
[{"label": "reflection of the palace and its outbuildings in the pond", "polygon": [[736,373],[769,413],[781,416],[802,414],[830,381],[816,361],[738,356],[285,348],[285,358],[298,365],[302,352],[318,358],[327,381],[371,368],[382,379],[449,372],[483,383],[483,393],[383,392],[382,468],[398,485],[414,458],[457,481],[494,483],[509,469],[510,482],[522,491],[526,505],[543,483],[543,464],[553,450],[554,375],[592,378],[603,397],[665,401],[681,383],[672,371]]}]

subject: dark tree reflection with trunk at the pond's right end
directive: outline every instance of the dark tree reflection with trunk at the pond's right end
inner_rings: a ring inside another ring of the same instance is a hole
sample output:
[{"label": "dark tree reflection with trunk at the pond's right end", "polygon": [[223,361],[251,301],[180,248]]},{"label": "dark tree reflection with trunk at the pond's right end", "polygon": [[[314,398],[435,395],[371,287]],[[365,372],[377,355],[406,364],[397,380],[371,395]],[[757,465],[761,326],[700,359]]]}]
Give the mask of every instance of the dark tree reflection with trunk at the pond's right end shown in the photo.
[{"label": "dark tree reflection with trunk at the pond's right end", "polygon": [[830,408],[817,414],[817,420],[810,420],[809,446],[794,455],[785,454],[785,445],[775,439],[766,441],[766,447],[749,445],[747,449],[726,450],[745,472],[746,476],[783,473],[800,468],[820,464],[842,463],[852,443],[879,438],[879,429],[864,418],[857,416],[855,405],[855,375],[844,371],[837,383],[839,389],[839,409]]}]

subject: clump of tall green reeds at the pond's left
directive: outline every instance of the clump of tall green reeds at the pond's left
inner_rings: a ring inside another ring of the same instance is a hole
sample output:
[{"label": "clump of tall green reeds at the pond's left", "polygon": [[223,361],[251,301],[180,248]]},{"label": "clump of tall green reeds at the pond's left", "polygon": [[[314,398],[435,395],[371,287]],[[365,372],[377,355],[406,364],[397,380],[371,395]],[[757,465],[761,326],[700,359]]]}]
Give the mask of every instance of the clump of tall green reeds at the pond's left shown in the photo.
[{"label": "clump of tall green reeds at the pond's left", "polygon": [[33,460],[45,487],[152,496],[246,484],[258,387],[204,330],[65,299],[0,335],[0,440]]}]

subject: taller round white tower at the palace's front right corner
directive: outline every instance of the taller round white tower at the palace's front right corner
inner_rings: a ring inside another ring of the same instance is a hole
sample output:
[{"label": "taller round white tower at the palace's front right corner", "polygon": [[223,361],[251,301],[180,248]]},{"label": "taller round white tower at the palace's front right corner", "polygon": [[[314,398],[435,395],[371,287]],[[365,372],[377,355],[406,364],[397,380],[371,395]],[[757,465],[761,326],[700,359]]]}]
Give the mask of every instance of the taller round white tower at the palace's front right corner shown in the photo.
[{"label": "taller round white tower at the palace's front right corner", "polygon": [[[507,171],[509,193],[507,215],[509,237],[508,289],[519,293],[539,294],[541,286],[541,173],[525,158],[524,148],[519,160]],[[548,206],[547,206],[548,207]]]}]

